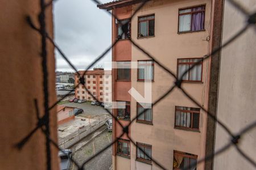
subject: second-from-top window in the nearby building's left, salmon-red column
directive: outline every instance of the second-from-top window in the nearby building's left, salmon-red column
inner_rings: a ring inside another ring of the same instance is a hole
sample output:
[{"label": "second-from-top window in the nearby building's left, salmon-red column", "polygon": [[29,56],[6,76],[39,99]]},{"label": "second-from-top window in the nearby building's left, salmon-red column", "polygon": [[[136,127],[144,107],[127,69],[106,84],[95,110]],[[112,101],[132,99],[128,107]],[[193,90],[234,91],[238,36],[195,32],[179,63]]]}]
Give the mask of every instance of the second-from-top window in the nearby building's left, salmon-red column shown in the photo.
[{"label": "second-from-top window in the nearby building's left, salmon-red column", "polygon": [[131,79],[130,65],[130,61],[117,62],[117,80]]}]

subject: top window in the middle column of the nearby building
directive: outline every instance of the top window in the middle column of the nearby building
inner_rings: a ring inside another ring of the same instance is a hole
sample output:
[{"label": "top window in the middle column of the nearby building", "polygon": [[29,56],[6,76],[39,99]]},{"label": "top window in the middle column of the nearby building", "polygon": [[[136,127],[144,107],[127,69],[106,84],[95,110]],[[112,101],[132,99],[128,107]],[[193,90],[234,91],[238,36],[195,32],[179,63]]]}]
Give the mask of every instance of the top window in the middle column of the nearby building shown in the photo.
[{"label": "top window in the middle column of the nearby building", "polygon": [[138,18],[138,37],[155,35],[155,15],[141,16]]}]

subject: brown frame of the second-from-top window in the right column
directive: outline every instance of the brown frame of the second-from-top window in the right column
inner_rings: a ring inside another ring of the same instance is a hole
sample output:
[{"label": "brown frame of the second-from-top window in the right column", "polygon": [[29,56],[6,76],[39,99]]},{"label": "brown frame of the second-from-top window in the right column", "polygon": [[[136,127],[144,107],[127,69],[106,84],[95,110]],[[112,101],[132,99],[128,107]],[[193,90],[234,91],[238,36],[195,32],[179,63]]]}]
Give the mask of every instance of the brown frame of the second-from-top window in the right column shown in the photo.
[{"label": "brown frame of the second-from-top window in the right column", "polygon": [[[179,62],[179,59],[189,59],[189,62]],[[191,59],[201,59],[201,62],[190,62]],[[197,65],[201,65],[201,80],[189,80],[190,72],[188,71],[188,80],[182,80],[183,82],[203,82],[203,58],[177,58],[177,78],[179,78],[179,65],[189,65],[188,68],[190,68],[190,65],[194,65],[197,63]],[[181,78],[182,79],[182,78]]]}]

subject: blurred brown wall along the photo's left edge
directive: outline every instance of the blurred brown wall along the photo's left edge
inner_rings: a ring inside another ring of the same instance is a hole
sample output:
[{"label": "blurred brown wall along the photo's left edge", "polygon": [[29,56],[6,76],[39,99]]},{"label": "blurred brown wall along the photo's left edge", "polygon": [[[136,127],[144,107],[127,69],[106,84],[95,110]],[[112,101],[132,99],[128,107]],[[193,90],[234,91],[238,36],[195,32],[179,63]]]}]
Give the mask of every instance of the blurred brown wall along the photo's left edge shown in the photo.
[{"label": "blurred brown wall along the photo's left edge", "polygon": [[[1,169],[47,169],[46,137],[36,131],[22,150],[15,146],[36,127],[34,99],[40,116],[44,114],[41,36],[26,22],[30,15],[39,26],[40,1],[1,1],[0,77],[1,77]],[[52,7],[46,10],[46,25],[53,37]],[[53,46],[47,43],[49,105],[56,101]],[[50,111],[51,138],[57,141],[56,110]],[[57,150],[51,147],[52,169],[59,169]]]}]

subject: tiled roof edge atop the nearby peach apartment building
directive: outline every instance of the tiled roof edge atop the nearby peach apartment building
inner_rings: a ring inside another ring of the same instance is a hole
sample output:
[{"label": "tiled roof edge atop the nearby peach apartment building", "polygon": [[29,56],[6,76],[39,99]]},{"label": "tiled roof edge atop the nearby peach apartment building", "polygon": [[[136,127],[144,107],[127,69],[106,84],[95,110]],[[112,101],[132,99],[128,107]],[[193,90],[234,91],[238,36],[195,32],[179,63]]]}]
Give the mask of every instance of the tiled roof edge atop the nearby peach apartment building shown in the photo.
[{"label": "tiled roof edge atop the nearby peach apartment building", "polygon": [[142,1],[143,0],[118,0],[118,1],[112,1],[112,2],[101,4],[101,5],[97,5],[97,7],[105,10],[112,10],[113,7],[120,8],[128,5],[133,5],[135,3],[140,3]]}]

